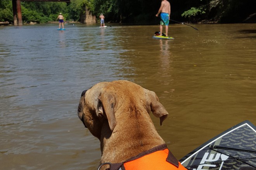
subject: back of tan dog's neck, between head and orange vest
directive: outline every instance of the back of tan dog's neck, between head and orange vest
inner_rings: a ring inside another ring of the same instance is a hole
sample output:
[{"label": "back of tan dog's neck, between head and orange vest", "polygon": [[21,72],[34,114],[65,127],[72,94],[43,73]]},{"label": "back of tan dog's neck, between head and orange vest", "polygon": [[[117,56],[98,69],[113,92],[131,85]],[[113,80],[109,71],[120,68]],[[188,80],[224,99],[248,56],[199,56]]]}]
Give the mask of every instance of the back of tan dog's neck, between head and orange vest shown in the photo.
[{"label": "back of tan dog's neck, between head and orange vest", "polygon": [[148,121],[140,124],[121,121],[109,138],[103,138],[102,144],[102,162],[118,163],[162,145],[164,141]]}]

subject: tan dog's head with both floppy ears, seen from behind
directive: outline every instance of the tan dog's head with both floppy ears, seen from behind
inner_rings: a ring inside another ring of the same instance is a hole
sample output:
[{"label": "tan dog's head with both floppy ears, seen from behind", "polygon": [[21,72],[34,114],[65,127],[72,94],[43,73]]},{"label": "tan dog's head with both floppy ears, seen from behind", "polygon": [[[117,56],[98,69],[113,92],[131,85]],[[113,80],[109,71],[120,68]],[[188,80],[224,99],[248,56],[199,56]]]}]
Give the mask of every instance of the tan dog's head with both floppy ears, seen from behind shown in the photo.
[{"label": "tan dog's head with both floppy ears, seen from behind", "polygon": [[150,111],[160,118],[160,124],[167,118],[168,112],[159,102],[156,93],[141,86],[119,80],[97,83],[83,91],[78,106],[78,117],[93,136],[100,139],[102,127],[108,124],[113,131],[121,114],[138,114]]}]

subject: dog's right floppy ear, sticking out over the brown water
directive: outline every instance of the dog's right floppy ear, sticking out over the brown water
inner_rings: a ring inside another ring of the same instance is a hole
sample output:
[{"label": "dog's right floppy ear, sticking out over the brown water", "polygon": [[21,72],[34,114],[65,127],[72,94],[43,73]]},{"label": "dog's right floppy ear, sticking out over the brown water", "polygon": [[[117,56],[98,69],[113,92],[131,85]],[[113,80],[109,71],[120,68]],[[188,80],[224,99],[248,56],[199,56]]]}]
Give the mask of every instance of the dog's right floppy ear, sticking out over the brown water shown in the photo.
[{"label": "dog's right floppy ear, sticking out over the brown water", "polygon": [[168,112],[166,111],[164,106],[159,102],[159,99],[155,92],[148,91],[147,94],[150,100],[150,109],[154,116],[160,118],[160,125],[162,126],[163,121],[168,116]]}]

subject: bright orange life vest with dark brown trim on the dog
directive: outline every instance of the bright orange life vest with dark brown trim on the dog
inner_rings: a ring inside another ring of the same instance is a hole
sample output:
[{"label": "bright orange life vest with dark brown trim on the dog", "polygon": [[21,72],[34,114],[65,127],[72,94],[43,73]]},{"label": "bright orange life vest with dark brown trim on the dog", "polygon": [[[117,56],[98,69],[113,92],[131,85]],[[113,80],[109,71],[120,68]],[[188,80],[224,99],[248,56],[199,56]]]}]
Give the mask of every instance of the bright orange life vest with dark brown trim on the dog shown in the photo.
[{"label": "bright orange life vest with dark brown trim on the dog", "polygon": [[159,145],[121,163],[110,163],[109,170],[187,170],[166,144]]}]

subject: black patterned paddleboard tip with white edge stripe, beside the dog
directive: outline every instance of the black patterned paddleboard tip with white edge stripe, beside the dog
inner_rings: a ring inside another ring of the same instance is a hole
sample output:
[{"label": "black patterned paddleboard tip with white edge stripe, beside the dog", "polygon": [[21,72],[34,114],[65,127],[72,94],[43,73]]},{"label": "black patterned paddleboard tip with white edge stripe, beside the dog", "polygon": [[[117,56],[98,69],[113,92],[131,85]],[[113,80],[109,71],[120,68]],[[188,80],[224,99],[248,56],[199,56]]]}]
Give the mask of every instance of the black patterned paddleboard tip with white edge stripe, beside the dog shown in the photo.
[{"label": "black patterned paddleboard tip with white edge stripe, beside the dog", "polygon": [[241,122],[179,161],[188,170],[256,170],[256,127]]}]

